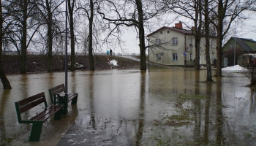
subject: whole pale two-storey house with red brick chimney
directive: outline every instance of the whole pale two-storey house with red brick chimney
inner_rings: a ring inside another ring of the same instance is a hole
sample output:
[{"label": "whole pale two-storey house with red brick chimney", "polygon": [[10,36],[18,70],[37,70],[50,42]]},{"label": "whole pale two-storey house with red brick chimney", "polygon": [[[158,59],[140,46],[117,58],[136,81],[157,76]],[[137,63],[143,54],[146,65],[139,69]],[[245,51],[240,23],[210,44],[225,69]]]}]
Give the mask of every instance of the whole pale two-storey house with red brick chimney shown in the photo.
[{"label": "whole pale two-storey house with red brick chimney", "polygon": [[[195,59],[195,37],[192,30],[183,29],[182,23],[176,23],[175,27],[162,27],[148,34],[150,55],[149,61],[170,66],[193,66]],[[200,42],[200,64],[206,64],[206,39]],[[211,63],[217,56],[217,39],[210,39]]]}]

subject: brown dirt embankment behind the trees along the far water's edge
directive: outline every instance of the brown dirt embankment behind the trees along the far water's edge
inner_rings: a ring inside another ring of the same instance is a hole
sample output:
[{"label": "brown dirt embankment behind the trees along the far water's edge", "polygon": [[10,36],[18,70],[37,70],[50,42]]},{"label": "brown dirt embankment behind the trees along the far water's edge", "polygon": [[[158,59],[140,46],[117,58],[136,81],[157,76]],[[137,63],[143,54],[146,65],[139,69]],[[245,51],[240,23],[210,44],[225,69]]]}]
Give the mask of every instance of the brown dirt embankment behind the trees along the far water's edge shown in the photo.
[{"label": "brown dirt embankment behind the trees along the far water's edge", "polygon": [[[20,73],[20,59],[18,55],[2,55],[2,64],[6,74]],[[64,71],[64,55],[53,56],[53,72]],[[117,61],[117,66],[109,64],[111,60]],[[70,61],[70,56],[68,62]],[[89,56],[76,55],[75,62],[83,65],[79,69],[89,70]],[[140,62],[127,58],[110,55],[94,55],[94,66],[99,69],[140,69]],[[46,55],[27,55],[27,72],[48,72],[48,62]]]}]

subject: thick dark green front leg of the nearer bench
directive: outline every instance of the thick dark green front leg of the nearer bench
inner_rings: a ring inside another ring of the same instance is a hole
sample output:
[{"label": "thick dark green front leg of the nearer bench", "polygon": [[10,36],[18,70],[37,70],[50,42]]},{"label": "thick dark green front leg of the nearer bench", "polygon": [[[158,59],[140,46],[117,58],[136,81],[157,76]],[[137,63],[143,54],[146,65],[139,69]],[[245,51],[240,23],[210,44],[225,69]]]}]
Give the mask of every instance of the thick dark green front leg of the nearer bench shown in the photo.
[{"label": "thick dark green front leg of the nearer bench", "polygon": [[43,122],[33,123],[29,137],[29,142],[39,142],[40,135],[42,132],[42,123]]}]

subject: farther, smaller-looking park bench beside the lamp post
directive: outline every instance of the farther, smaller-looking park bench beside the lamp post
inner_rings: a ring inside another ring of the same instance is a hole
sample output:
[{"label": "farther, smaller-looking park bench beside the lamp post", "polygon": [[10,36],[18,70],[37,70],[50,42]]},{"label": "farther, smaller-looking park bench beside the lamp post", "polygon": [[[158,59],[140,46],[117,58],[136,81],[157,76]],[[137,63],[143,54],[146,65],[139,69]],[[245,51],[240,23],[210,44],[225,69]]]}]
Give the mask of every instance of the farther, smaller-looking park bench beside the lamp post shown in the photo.
[{"label": "farther, smaller-looking park bench beside the lamp post", "polygon": [[78,93],[69,93],[65,94],[65,96],[61,96],[61,93],[66,93],[65,91],[65,85],[57,85],[56,87],[49,89],[50,93],[50,101],[52,104],[63,104],[64,105],[64,111],[63,114],[66,115],[67,113],[67,103],[71,101],[71,104],[77,104],[78,101]]}]

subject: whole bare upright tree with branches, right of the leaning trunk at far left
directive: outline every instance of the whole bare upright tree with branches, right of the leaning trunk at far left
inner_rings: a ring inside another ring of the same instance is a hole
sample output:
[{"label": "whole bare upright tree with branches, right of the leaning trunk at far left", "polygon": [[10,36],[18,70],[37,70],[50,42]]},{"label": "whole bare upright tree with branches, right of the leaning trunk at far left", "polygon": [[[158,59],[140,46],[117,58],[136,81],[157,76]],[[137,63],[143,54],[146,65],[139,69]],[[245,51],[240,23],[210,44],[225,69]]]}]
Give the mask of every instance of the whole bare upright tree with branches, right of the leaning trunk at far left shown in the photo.
[{"label": "whole bare upright tree with branches, right of the leaning trunk at far left", "polygon": [[39,0],[7,0],[10,4],[9,7],[7,7],[7,11],[12,14],[10,17],[15,21],[12,22],[12,26],[7,33],[8,39],[6,40],[11,42],[18,51],[18,55],[20,56],[21,74],[26,73],[27,48],[40,26],[40,22],[37,17],[38,9],[35,7],[37,1]]}]

